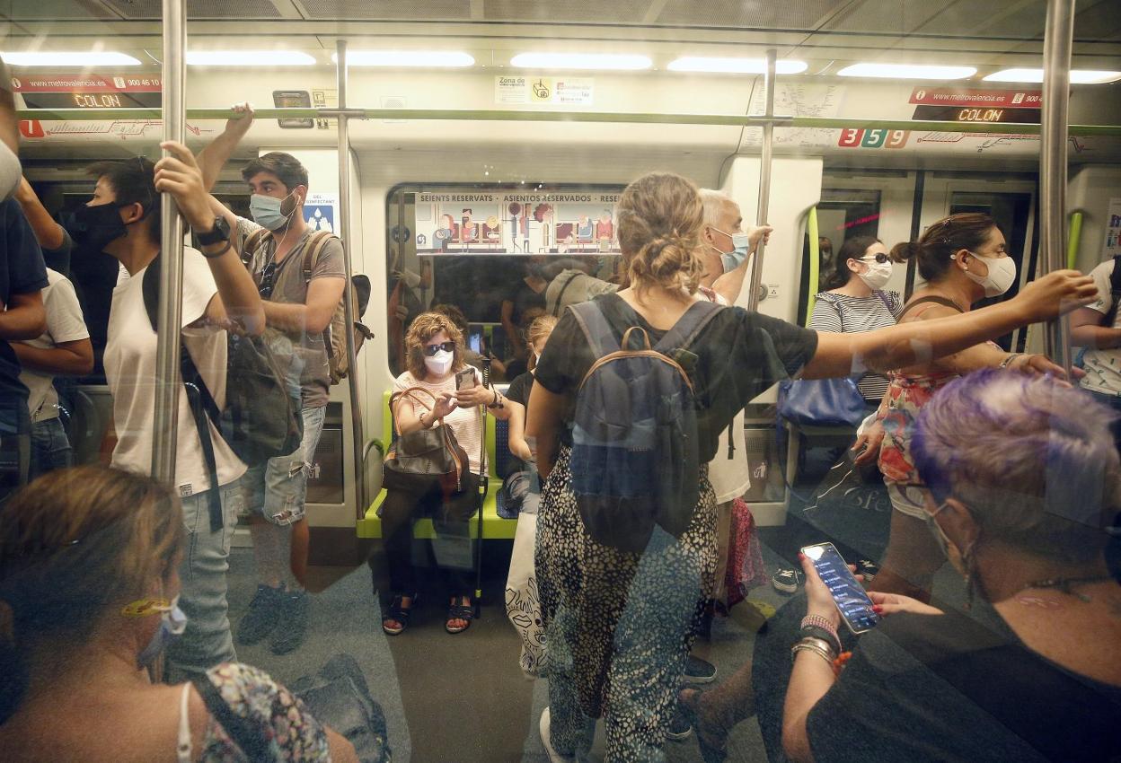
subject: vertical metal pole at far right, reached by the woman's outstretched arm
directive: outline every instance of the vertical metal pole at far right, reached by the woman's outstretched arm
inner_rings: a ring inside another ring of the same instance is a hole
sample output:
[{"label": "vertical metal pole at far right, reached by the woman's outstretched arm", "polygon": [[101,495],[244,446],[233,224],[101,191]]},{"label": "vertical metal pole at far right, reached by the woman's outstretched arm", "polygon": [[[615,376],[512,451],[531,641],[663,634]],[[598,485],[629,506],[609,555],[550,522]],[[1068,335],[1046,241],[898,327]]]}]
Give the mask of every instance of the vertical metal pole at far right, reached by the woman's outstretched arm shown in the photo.
[{"label": "vertical metal pole at far right, reached by the woman's outstretched arm", "polygon": [[[1074,37],[1075,0],[1048,0],[1044,32],[1044,109],[1040,131],[1039,240],[1040,275],[1066,266],[1066,143],[1071,93],[1071,48]],[[1047,354],[1069,371],[1071,342],[1067,319],[1047,323],[1044,343]]]}]

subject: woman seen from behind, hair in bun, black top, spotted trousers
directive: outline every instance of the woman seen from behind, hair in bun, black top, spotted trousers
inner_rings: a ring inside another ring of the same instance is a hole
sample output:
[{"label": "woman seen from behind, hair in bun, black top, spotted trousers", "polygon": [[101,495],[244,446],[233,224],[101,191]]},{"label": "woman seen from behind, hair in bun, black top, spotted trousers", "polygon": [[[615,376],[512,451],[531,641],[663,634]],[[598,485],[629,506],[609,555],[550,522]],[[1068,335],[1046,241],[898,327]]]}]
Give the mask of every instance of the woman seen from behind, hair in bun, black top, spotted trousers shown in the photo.
[{"label": "woman seen from behind, hair in bun, black top, spotted trousers", "polygon": [[[622,193],[617,232],[629,286],[592,300],[617,342],[639,326],[656,344],[687,311],[708,304],[697,291],[703,224],[697,187],[680,176],[645,175]],[[596,542],[576,505],[571,426],[581,383],[599,355],[567,308],[537,364],[526,427],[545,480],[536,569],[548,642],[549,707],[540,731],[550,760],[584,754],[592,719],[601,716],[608,761],[665,760],[661,745],[696,605],[711,597],[716,568],[715,496],[704,464],[748,402],[791,376],[844,376],[853,367],[886,372],[960,352],[1095,296],[1092,279],[1064,270],[1027,285],[1016,299],[966,316],[860,334],[817,333],[739,307],[720,308],[687,353],[674,353],[697,406],[700,499],[679,538],[656,528],[642,552]]]}]

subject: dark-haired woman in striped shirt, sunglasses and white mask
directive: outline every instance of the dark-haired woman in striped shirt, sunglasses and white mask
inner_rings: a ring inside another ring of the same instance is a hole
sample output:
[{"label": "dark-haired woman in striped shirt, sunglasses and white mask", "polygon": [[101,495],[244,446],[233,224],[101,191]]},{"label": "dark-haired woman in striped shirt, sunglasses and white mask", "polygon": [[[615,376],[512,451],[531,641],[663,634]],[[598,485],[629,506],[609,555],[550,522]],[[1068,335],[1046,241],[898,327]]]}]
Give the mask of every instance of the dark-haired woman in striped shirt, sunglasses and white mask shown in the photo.
[{"label": "dark-haired woman in striped shirt, sunglasses and white mask", "polygon": [[[816,297],[809,328],[854,334],[893,326],[902,300],[897,291],[882,290],[890,278],[891,260],[879,239],[849,239],[837,251],[833,272],[825,280],[827,290]],[[869,372],[856,385],[864,401],[876,407],[888,391],[888,378]]]}]

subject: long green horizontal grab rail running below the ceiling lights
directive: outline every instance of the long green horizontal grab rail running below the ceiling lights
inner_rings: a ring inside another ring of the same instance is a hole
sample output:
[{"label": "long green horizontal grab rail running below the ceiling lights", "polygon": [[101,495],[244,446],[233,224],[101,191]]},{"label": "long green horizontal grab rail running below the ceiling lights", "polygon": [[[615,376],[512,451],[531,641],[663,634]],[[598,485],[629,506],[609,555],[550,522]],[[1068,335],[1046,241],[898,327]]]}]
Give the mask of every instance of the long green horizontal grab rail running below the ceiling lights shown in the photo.
[{"label": "long green horizontal grab rail running below the ceiling lights", "polygon": [[[158,120],[159,109],[24,109],[24,120],[106,121]],[[337,109],[261,109],[258,119],[330,119]],[[706,124],[713,127],[760,127],[762,119],[743,114],[659,114],[602,111],[511,111],[478,109],[353,109],[352,118],[427,121],[482,122],[608,122],[618,124]],[[187,119],[224,120],[235,117],[230,109],[187,109]],[[839,117],[776,118],[777,128],[822,128],[830,130],[928,130],[934,132],[985,132],[999,134],[1039,134],[1038,124],[999,122],[926,122],[916,120],[850,119]],[[1121,136],[1121,124],[1072,124],[1072,136]]]}]

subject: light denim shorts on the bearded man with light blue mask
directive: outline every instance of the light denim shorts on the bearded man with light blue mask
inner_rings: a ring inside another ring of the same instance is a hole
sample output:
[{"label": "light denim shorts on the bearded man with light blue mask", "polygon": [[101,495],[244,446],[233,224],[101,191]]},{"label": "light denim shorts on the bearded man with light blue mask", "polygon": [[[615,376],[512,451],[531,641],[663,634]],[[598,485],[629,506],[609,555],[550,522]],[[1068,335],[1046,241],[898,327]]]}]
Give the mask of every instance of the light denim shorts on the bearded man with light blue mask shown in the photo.
[{"label": "light denim shorts on the bearded man with light blue mask", "polygon": [[304,439],[290,455],[269,458],[242,477],[245,488],[245,511],[258,513],[266,521],[288,525],[304,519],[307,500],[307,476],[312,471],[315,448],[323,434],[327,407],[304,408]]}]

